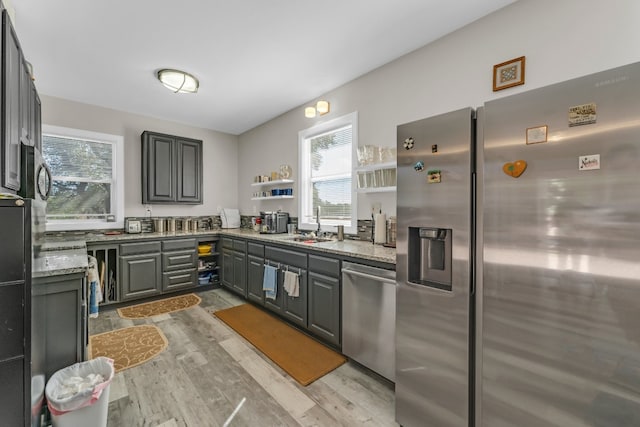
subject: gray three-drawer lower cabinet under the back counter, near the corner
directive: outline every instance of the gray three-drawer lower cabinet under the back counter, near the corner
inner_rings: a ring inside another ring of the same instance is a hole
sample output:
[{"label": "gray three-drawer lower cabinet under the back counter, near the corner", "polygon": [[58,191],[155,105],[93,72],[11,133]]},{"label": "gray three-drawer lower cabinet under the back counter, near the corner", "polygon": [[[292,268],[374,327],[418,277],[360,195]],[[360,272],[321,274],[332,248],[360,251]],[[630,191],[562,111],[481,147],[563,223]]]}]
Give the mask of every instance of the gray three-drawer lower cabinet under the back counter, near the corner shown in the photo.
[{"label": "gray three-drawer lower cabinet under the back counter, near the corner", "polygon": [[198,280],[196,239],[162,242],[162,292],[192,288]]}]

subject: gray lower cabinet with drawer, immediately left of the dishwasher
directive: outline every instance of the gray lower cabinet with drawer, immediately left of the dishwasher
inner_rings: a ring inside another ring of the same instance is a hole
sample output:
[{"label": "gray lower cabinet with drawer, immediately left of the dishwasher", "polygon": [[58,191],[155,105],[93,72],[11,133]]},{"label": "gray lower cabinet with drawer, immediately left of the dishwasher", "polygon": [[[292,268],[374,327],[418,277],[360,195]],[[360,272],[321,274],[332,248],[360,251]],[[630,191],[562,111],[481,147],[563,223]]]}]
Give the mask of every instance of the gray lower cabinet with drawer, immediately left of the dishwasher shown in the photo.
[{"label": "gray lower cabinet with drawer, immediately left of the dishwasher", "polygon": [[340,347],[340,260],[309,255],[309,331]]}]

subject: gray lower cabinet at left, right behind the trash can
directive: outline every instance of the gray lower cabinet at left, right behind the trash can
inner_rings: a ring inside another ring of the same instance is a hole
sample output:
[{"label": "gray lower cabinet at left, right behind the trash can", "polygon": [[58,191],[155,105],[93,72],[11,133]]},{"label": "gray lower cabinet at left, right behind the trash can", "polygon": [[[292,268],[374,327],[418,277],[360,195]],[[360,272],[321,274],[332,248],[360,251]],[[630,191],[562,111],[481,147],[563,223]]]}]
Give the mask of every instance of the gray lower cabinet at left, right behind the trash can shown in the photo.
[{"label": "gray lower cabinet at left, right behind the trash can", "polygon": [[32,363],[44,363],[47,380],[86,358],[86,292],[84,272],[33,279]]}]

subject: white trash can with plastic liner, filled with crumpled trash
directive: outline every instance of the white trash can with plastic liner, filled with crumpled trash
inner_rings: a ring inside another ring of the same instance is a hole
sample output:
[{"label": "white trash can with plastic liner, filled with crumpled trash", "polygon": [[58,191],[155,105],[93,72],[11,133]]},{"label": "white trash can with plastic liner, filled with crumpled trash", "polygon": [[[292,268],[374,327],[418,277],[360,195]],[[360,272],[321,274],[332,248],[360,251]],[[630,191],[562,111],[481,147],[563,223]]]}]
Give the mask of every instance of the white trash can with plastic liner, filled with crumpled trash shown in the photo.
[{"label": "white trash can with plastic liner, filled with crumpled trash", "polygon": [[45,387],[54,427],[106,427],[113,360],[97,357],[54,373]]}]

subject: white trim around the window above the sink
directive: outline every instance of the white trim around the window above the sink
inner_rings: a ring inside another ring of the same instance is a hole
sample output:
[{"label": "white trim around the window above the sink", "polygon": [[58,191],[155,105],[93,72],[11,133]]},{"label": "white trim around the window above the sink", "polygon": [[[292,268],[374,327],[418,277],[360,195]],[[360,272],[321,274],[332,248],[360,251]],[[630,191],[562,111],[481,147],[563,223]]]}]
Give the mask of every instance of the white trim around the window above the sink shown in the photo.
[{"label": "white trim around the window above the sink", "polygon": [[[298,132],[298,168],[299,172],[299,187],[298,187],[298,229],[300,230],[317,230],[316,222],[304,222],[304,206],[309,203],[311,195],[305,189],[309,188],[310,180],[309,173],[307,171],[310,160],[308,159],[309,153],[306,150],[306,141],[322,135],[333,130],[340,129],[342,127],[351,125],[351,224],[344,227],[345,233],[357,234],[358,233],[358,192],[356,190],[357,176],[354,165],[354,159],[356,159],[358,149],[358,112],[354,111],[344,116],[337,117],[335,119],[316,124],[310,128],[301,130]],[[322,231],[331,231],[335,233],[337,226],[322,224],[320,222]]]}]

